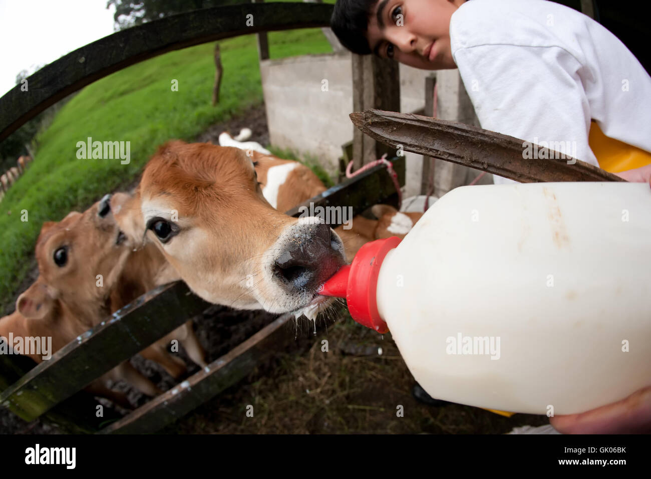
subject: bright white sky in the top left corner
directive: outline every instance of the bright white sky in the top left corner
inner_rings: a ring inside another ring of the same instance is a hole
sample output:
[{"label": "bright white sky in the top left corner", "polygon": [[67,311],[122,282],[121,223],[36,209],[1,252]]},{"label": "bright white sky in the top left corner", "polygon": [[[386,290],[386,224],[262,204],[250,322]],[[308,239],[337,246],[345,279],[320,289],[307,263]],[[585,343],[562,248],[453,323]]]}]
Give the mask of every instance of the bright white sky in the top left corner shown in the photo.
[{"label": "bright white sky in the top left corner", "polygon": [[52,63],[113,33],[107,0],[0,0],[0,96],[21,70]]}]

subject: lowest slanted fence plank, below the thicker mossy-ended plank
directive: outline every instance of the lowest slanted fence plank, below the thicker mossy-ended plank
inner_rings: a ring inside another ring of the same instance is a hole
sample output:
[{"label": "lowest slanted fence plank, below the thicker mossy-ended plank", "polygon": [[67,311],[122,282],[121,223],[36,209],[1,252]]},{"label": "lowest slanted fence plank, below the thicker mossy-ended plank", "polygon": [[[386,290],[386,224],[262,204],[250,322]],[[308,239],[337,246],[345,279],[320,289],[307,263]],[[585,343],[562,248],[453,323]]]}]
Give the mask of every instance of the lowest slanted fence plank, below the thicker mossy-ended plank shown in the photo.
[{"label": "lowest slanted fence plank, below the thicker mossy-ended plank", "polygon": [[246,377],[270,353],[292,338],[284,326],[294,319],[284,314],[227,354],[195,373],[180,385],[152,399],[133,413],[107,426],[102,434],[154,433],[174,422],[229,386]]}]

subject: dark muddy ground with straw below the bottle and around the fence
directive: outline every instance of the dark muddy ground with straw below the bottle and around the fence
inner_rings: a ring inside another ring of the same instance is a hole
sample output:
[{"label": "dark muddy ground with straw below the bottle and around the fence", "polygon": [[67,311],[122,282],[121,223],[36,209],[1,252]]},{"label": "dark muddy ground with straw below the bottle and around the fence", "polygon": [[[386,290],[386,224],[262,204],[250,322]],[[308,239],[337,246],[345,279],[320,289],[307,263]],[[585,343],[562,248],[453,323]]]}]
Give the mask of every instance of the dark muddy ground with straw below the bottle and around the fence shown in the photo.
[{"label": "dark muddy ground with straw below the bottle and around the fence", "polygon": [[[213,141],[224,130],[253,130],[252,141],[269,144],[264,106],[211,126],[196,141]],[[133,183],[135,184],[135,182]],[[127,189],[132,185],[124,185]],[[31,274],[16,293],[38,275]],[[15,301],[16,298],[13,298]],[[5,311],[12,311],[11,301]],[[5,312],[6,314],[7,312]],[[242,312],[212,306],[193,323],[208,360],[219,356],[273,321],[275,315]],[[506,433],[516,426],[547,424],[544,416],[516,414],[506,418],[464,405],[432,407],[413,398],[415,384],[391,334],[380,335],[354,323],[345,308],[336,305],[314,325],[305,317],[290,322],[286,334],[294,341],[259,364],[245,380],[159,431],[179,433]],[[327,341],[327,352],[324,349]],[[199,370],[184,351],[187,375]],[[158,364],[140,356],[132,364],[161,389],[176,382]],[[147,398],[124,383],[134,406]],[[104,405],[109,405],[102,400]],[[253,406],[253,417],[246,414]],[[401,408],[402,406],[402,408]],[[403,416],[397,411],[402,409]],[[124,413],[124,411],[122,411]],[[0,433],[61,433],[46,420],[26,423],[0,409]]]}]

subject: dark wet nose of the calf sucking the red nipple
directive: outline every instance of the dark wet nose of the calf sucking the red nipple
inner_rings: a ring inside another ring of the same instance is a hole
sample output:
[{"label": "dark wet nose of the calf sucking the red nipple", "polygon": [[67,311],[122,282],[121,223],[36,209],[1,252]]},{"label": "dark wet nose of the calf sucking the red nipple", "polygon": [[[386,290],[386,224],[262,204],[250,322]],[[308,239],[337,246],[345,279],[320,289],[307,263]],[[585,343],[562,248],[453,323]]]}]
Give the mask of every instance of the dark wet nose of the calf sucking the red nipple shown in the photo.
[{"label": "dark wet nose of the calf sucking the red nipple", "polygon": [[275,259],[275,275],[290,291],[316,291],[341,265],[343,247],[326,224],[305,225]]}]

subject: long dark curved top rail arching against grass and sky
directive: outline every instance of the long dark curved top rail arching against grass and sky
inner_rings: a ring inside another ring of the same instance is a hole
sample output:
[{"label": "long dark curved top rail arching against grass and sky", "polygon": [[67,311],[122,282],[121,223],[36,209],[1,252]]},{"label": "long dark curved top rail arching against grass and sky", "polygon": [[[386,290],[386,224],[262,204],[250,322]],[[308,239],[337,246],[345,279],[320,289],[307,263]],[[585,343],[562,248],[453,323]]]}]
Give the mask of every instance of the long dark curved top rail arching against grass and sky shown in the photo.
[{"label": "long dark curved top rail arching against grass and sky", "polygon": [[232,36],[326,27],[332,11],[333,5],[319,3],[245,3],[171,15],[105,36],[29,76],[27,91],[16,85],[0,98],[0,141],[68,94],[127,66]]}]

